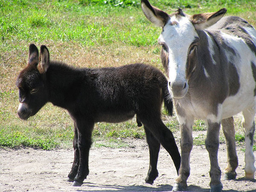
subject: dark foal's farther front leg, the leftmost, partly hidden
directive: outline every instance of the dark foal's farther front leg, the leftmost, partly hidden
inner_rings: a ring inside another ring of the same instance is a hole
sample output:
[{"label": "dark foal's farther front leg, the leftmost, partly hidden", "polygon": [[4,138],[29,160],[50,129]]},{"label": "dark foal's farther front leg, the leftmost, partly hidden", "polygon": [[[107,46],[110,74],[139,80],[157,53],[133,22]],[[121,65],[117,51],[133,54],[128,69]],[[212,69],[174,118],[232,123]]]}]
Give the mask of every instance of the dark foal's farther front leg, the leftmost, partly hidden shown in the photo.
[{"label": "dark foal's farther front leg, the leftmost, partly hidden", "polygon": [[67,181],[73,182],[76,177],[78,166],[79,166],[79,149],[78,149],[78,133],[76,123],[74,122],[74,140],[73,140],[73,148],[74,148],[74,161],[71,168],[70,173],[68,174]]}]

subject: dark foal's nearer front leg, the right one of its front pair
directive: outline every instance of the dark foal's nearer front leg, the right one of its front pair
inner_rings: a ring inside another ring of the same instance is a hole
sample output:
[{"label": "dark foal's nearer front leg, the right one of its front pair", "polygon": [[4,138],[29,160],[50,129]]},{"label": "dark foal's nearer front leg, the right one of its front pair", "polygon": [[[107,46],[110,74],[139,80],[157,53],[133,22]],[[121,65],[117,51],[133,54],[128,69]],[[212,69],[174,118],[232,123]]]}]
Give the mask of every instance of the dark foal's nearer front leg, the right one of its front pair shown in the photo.
[{"label": "dark foal's nearer front leg, the right one of its front pair", "polygon": [[92,144],[93,122],[76,121],[78,133],[79,167],[73,186],[81,186],[89,174],[89,150]]}]

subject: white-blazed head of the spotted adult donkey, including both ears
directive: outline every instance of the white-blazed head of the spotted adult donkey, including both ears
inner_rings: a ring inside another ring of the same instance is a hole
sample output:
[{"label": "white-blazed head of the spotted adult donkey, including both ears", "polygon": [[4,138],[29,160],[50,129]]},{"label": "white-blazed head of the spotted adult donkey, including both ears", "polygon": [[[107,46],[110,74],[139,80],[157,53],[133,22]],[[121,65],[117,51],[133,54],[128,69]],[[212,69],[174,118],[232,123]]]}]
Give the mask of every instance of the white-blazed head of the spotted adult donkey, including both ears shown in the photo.
[{"label": "white-blazed head of the spotted adult donkey, including both ears", "polygon": [[142,9],[152,23],[163,28],[158,43],[162,46],[161,59],[169,77],[168,89],[173,98],[181,99],[189,89],[189,76],[195,69],[190,60],[197,57],[196,30],[214,24],[223,17],[226,9],[192,16],[184,15],[178,9],[174,14],[168,15],[151,6],[148,1],[142,1]]}]

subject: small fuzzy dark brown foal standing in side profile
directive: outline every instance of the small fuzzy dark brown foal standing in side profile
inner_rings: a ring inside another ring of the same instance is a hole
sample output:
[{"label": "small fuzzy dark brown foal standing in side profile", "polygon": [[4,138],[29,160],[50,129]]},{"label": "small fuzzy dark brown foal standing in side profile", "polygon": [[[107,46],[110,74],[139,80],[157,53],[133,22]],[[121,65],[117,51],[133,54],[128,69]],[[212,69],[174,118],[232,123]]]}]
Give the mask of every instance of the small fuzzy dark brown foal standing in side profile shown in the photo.
[{"label": "small fuzzy dark brown foal standing in side profile", "polygon": [[47,102],[67,109],[74,120],[75,157],[68,181],[81,186],[89,174],[88,157],[95,122],[122,122],[137,114],[138,126],[144,125],[150,165],[147,183],[158,176],[160,144],[169,152],[176,170],[180,153],[172,132],[161,120],[161,106],[172,113],[172,101],[163,73],[145,64],[111,68],[73,68],[49,60],[46,46],[40,57],[34,44],[29,46],[29,61],[17,78],[20,105],[18,115],[28,119]]}]

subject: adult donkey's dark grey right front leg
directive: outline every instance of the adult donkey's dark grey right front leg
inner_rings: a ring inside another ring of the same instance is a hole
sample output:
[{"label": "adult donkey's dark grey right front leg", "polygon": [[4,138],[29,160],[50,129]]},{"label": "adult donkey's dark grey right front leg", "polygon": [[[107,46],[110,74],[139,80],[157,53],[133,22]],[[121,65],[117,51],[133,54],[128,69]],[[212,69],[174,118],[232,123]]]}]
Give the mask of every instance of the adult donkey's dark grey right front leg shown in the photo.
[{"label": "adult donkey's dark grey right front leg", "polygon": [[219,132],[220,122],[207,121],[208,129],[205,140],[205,147],[209,153],[210,158],[210,192],[221,192],[221,169],[218,166],[218,147],[219,147]]}]

